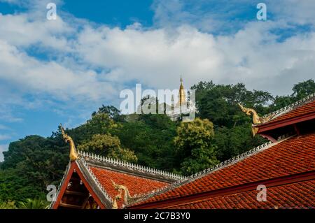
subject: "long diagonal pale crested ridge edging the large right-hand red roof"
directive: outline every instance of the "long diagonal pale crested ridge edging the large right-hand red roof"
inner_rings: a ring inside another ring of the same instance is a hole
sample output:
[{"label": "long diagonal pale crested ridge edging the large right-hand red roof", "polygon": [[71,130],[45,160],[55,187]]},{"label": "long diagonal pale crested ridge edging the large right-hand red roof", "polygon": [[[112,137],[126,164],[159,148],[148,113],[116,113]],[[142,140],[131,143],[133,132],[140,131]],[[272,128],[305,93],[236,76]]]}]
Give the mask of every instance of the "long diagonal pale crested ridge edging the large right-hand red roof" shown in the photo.
[{"label": "long diagonal pale crested ridge edging the large right-hand red roof", "polygon": [[[263,143],[262,145],[258,145],[251,150],[243,152],[242,154],[238,154],[236,157],[232,157],[230,159],[227,159],[227,160],[221,162],[220,164],[216,164],[216,166],[212,166],[210,168],[204,169],[203,171],[200,171],[198,173],[190,175],[187,178],[173,182],[170,185],[167,185],[165,187],[162,187],[160,189],[155,190],[154,193],[148,193],[145,196],[143,196],[141,199],[139,199],[138,201],[135,201],[134,203],[128,204],[128,206],[132,206],[133,204],[139,203],[141,201],[146,201],[147,199],[149,199],[155,195],[162,194],[162,193],[167,192],[167,191],[174,189],[176,187],[185,185],[186,183],[193,182],[194,180],[202,178],[204,175],[208,175],[209,173],[213,173],[214,171],[218,171],[221,168],[225,168],[226,166],[230,166],[232,164],[235,164],[238,161],[241,161],[242,159],[245,159],[249,156],[252,156],[253,154],[256,154],[262,150],[269,148],[271,144],[276,145],[278,143],[281,143],[282,141],[285,141],[286,139],[288,139],[290,137],[291,136],[288,136],[288,134],[285,134],[283,136],[279,136],[278,141],[276,141],[276,143],[272,143],[272,141],[268,141],[266,143]],[[128,207],[128,206],[126,206],[126,207]]]}]

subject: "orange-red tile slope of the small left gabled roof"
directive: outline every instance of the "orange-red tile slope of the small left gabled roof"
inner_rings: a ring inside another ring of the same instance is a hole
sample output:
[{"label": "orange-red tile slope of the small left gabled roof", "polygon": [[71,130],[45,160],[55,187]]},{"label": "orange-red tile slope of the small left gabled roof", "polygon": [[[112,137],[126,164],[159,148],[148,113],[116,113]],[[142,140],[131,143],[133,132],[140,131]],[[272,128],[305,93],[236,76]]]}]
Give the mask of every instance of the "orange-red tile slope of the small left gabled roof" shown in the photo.
[{"label": "orange-red tile slope of the small left gabled roof", "polygon": [[[118,194],[114,189],[113,182],[118,185],[124,185],[128,188],[130,195],[134,196],[135,194],[146,194],[155,189],[165,187],[169,185],[167,182],[160,182],[158,180],[151,180],[148,178],[141,178],[135,175],[130,175],[126,173],[120,173],[117,171],[110,171],[104,168],[97,168],[91,166],[92,173],[96,176],[97,180],[101,183],[102,187],[106,192],[111,196],[112,199]],[[123,205],[123,199],[118,201],[118,207],[121,208]]]}]

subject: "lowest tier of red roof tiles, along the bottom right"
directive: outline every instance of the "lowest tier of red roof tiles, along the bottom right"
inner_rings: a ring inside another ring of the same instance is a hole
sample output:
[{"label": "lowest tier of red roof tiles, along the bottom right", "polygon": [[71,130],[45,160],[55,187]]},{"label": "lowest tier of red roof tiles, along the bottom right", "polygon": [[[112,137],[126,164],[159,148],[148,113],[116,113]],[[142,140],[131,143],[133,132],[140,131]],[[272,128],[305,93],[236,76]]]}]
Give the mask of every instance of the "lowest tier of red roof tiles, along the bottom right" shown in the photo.
[{"label": "lowest tier of red roof tiles, along the bottom right", "polygon": [[255,209],[255,208],[315,208],[315,180],[267,188],[267,201],[257,201],[256,190],[216,196],[202,201],[181,203],[176,209]]}]

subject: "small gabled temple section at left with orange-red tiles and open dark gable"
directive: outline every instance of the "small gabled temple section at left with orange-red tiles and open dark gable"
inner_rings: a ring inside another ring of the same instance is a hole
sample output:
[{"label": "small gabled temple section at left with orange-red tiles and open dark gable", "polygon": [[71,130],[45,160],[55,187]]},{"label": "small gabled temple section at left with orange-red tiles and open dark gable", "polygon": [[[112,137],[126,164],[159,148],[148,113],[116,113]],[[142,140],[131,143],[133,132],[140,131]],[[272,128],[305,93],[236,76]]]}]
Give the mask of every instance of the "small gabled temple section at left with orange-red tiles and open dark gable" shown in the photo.
[{"label": "small gabled temple section at left with orange-red tiles and open dark gable", "polygon": [[78,159],[67,166],[50,208],[123,208],[123,204],[181,179],[174,173],[78,152]]}]

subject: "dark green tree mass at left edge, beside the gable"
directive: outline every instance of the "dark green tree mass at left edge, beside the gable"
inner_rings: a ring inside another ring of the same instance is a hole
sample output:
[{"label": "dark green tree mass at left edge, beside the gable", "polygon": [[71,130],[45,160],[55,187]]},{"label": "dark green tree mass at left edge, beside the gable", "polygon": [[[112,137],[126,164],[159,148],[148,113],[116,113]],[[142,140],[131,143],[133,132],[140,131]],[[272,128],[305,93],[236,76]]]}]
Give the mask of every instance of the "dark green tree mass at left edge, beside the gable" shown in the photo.
[{"label": "dark green tree mass at left edge, beside the gable", "polygon": [[45,194],[47,185],[57,185],[69,162],[69,148],[59,136],[27,136],[10,143],[3,152],[0,199],[24,201]]}]

